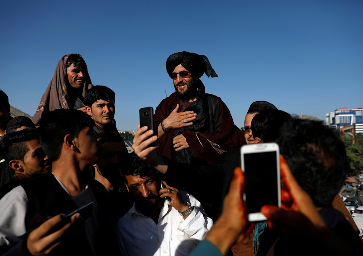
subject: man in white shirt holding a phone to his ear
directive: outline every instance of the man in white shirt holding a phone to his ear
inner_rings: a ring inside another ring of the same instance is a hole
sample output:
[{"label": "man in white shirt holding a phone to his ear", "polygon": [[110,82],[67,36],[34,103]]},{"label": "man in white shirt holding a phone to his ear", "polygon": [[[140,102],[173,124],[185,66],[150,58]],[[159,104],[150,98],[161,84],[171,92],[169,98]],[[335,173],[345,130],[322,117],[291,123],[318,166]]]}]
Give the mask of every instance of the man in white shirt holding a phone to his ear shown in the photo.
[{"label": "man in white shirt holding a phone to his ear", "polygon": [[212,219],[196,198],[160,181],[136,154],[130,158],[124,181],[135,203],[117,223],[122,255],[188,255],[211,229]]}]

